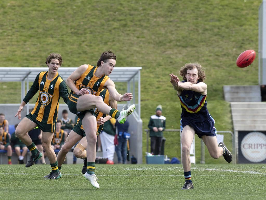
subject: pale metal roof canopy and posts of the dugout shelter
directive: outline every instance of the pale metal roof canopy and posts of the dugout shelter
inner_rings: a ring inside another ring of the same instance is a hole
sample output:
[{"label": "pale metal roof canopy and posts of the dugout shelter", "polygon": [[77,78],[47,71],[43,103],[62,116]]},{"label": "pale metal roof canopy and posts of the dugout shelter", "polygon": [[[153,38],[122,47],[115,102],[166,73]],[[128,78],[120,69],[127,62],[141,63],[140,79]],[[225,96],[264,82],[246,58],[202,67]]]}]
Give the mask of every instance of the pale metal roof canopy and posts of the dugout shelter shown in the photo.
[{"label": "pale metal roof canopy and posts of the dugout shelter", "polygon": [[[77,67],[59,67],[58,73],[66,80]],[[135,102],[135,77],[138,80],[138,117],[140,118],[140,70],[142,67],[115,67],[109,76],[114,82],[127,82],[127,91],[133,94]],[[29,82],[33,82],[41,71],[47,71],[48,67],[0,67],[0,82],[21,82],[21,102],[25,97],[25,82],[27,82],[27,91]],[[130,81],[133,80],[133,91],[130,91]],[[28,106],[27,106],[28,110]]]}]

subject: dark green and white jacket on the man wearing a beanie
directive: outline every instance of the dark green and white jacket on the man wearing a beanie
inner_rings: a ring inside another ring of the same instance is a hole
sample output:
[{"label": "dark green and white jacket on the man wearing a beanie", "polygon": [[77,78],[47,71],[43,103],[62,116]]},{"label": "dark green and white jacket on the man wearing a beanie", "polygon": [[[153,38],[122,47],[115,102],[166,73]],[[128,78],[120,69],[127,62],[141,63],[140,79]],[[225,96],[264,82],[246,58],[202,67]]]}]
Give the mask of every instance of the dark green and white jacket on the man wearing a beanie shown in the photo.
[{"label": "dark green and white jacket on the man wearing a beanie", "polygon": [[[161,115],[160,117],[156,115],[152,115],[148,124],[148,127],[150,129],[150,135],[149,137],[163,137],[163,131],[165,130],[165,120],[166,118]],[[163,128],[163,131],[154,132],[152,130],[153,127]]]}]

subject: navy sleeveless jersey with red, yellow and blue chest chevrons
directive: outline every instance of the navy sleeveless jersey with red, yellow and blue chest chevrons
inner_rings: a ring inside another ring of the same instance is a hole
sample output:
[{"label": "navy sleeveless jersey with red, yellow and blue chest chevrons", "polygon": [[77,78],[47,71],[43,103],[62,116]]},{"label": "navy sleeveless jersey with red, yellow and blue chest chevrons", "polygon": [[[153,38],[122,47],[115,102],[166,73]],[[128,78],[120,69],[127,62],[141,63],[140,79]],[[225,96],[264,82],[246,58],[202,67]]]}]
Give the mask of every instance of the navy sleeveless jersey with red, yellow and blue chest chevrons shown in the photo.
[{"label": "navy sleeveless jersey with red, yellow and blue chest chevrons", "polygon": [[178,97],[182,108],[182,119],[202,122],[210,117],[209,111],[207,110],[207,95],[202,95],[192,90],[183,90]]}]

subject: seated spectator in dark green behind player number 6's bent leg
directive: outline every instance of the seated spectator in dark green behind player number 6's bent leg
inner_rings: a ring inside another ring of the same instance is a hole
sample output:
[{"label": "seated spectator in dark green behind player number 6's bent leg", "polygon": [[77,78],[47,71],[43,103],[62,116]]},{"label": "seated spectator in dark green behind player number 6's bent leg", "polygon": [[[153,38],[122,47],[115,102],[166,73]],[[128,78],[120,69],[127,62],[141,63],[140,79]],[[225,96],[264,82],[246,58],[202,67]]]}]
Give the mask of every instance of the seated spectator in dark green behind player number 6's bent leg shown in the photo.
[{"label": "seated spectator in dark green behind player number 6's bent leg", "polygon": [[[18,125],[16,124],[15,129],[17,126]],[[28,151],[27,146],[23,142],[21,142],[21,140],[16,136],[15,132],[12,133],[10,141],[15,149],[16,154],[18,155],[19,164],[24,164],[23,159]],[[20,149],[23,150],[22,153],[20,153]]]}]

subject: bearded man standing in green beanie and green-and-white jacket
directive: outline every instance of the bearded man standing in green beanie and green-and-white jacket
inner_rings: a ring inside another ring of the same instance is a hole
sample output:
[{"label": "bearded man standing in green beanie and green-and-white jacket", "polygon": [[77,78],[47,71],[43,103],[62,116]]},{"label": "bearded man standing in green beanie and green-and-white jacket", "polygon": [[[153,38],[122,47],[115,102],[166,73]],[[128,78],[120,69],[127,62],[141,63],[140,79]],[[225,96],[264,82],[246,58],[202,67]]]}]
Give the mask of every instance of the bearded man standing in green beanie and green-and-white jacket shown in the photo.
[{"label": "bearded man standing in green beanie and green-and-white jacket", "polygon": [[161,105],[156,107],[156,114],[152,115],[148,127],[150,129],[149,137],[151,138],[151,154],[160,155],[163,141],[163,131],[165,130],[166,118],[162,115],[163,108]]}]

